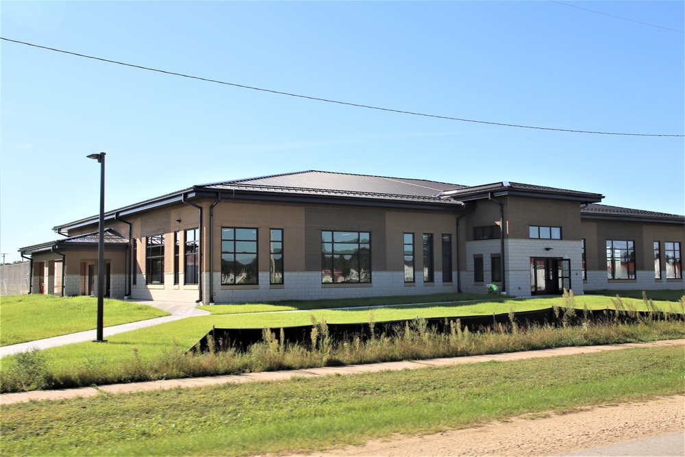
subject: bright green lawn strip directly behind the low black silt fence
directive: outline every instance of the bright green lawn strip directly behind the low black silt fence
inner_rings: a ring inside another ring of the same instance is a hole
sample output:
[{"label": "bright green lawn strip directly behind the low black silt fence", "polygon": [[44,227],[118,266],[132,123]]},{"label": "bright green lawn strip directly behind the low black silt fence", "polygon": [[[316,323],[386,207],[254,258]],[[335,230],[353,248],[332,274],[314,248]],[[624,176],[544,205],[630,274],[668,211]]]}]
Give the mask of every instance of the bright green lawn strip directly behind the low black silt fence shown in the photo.
[{"label": "bright green lawn strip directly behind the low black silt fence", "polygon": [[[623,299],[624,306],[647,310],[643,300]],[[614,308],[610,297],[575,297],[578,308]],[[654,305],[669,312],[680,312],[680,306],[670,301],[654,302]],[[529,311],[564,306],[562,297],[544,299],[511,299],[502,302],[453,303],[420,306],[390,306],[388,308],[358,308],[353,310],[301,310],[290,312],[262,312],[254,314],[212,314],[189,317],[179,321],[163,323],[132,332],[108,336],[108,343],[99,344],[93,350],[92,342],[53,347],[43,351],[52,367],[71,365],[114,365],[132,360],[134,349],[141,362],[149,362],[168,354],[169,351],[186,351],[205,336],[212,326],[216,328],[279,328],[293,325],[310,325],[312,317],[327,323],[356,323],[369,321],[392,321],[418,317],[462,317],[483,314],[506,313],[510,310]],[[216,308],[221,308],[217,305]]]}]

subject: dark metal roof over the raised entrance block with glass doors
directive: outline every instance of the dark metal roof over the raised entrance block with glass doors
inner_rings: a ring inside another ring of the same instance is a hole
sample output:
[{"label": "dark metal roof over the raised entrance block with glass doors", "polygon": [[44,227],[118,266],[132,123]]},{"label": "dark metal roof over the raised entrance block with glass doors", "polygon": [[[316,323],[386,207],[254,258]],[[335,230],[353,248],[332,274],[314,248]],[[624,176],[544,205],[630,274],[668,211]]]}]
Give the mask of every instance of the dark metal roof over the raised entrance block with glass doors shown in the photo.
[{"label": "dark metal roof over the raised entrance block with glass doors", "polygon": [[594,203],[601,201],[604,198],[603,195],[596,193],[581,192],[579,190],[568,190],[549,186],[534,186],[533,184],[523,184],[520,182],[509,181],[446,190],[440,195],[452,197],[461,201],[483,199],[490,196],[502,197],[504,195],[575,200],[583,203]]}]

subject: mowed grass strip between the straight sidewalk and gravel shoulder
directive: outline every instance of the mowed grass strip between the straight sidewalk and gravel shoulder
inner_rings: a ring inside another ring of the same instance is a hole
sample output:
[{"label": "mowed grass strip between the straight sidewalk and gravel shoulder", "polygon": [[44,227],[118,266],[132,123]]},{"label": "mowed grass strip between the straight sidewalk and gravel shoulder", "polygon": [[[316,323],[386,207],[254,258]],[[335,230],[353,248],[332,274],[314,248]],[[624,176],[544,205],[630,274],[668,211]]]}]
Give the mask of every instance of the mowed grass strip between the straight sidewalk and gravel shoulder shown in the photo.
[{"label": "mowed grass strip between the straight sidewalk and gravel shoulder", "polygon": [[682,395],[682,347],[0,407],[3,456],[249,456]]}]

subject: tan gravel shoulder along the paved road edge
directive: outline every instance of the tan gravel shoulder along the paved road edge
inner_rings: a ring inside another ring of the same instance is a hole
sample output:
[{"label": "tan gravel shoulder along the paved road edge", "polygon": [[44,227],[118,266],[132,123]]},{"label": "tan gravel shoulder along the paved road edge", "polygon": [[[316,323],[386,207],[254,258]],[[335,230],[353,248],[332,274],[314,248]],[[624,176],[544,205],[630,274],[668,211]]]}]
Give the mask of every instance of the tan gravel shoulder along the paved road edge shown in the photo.
[{"label": "tan gravel shoulder along the paved road edge", "polygon": [[517,417],[438,434],[390,436],[306,456],[555,456],[684,431],[685,395],[679,395],[581,408],[561,415],[549,412]]}]

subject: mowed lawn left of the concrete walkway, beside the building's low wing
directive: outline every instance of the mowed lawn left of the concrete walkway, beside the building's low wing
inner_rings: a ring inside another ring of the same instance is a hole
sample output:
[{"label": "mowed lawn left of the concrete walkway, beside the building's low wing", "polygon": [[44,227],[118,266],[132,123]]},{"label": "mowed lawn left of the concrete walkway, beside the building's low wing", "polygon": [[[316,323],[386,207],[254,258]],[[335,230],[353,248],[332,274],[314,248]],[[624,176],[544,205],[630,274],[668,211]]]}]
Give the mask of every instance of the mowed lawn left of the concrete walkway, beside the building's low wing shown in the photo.
[{"label": "mowed lawn left of the concrete walkway, beside the building's low wing", "polygon": [[[104,300],[103,309],[105,327],[169,315],[151,306],[112,299]],[[34,294],[3,297],[0,318],[0,346],[84,332],[97,327],[97,298]]]}]

